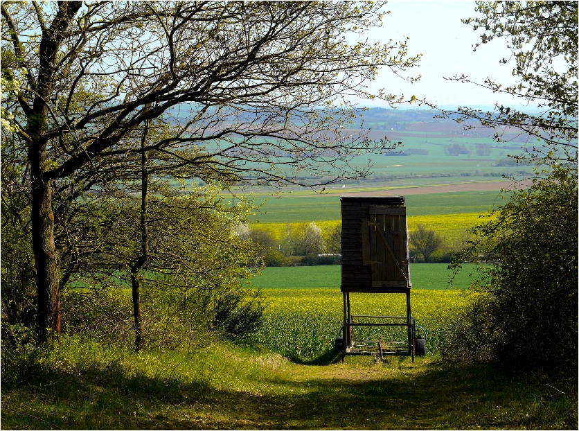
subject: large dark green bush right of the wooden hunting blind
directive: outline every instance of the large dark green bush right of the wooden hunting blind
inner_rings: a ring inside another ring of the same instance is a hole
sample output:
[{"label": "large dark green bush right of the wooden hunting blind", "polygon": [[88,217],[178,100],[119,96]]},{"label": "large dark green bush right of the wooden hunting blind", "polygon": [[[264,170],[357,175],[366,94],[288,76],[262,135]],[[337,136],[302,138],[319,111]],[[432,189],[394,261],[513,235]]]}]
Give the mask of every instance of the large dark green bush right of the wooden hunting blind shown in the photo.
[{"label": "large dark green bush right of the wooden hunting blind", "polygon": [[458,262],[480,263],[484,296],[455,318],[447,358],[576,376],[578,206],[576,171],[555,167],[473,229]]}]

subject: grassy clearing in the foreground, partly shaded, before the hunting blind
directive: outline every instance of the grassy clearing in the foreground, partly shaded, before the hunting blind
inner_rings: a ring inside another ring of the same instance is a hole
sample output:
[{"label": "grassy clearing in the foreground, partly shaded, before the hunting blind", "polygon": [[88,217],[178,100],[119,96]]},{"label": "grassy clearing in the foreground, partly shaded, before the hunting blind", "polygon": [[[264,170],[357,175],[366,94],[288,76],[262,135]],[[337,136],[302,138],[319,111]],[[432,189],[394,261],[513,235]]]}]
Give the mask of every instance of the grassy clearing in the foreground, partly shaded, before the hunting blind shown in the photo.
[{"label": "grassy clearing in the foreground, partly shaded, before the hunting blind", "polygon": [[6,430],[577,429],[555,382],[432,357],[304,365],[224,342],[184,355],[62,337],[19,380],[6,372]]}]

